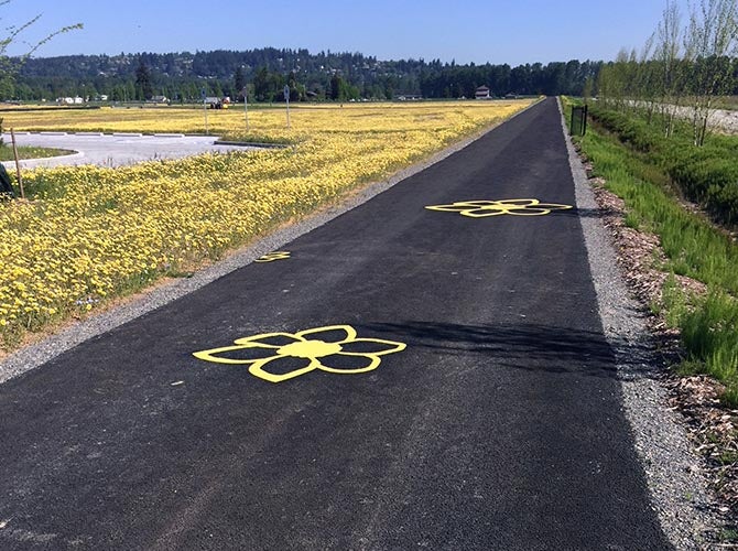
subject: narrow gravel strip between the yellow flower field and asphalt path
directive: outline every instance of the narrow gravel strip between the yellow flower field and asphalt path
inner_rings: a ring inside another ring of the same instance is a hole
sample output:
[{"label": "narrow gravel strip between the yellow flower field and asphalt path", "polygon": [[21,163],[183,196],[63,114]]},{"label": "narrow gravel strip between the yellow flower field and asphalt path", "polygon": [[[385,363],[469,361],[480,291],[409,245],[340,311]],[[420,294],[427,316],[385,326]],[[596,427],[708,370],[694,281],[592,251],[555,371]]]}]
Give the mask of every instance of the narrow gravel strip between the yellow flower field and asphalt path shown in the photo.
[{"label": "narrow gravel strip between the yellow flower field and asphalt path", "polygon": [[493,122],[462,141],[434,153],[430,158],[395,172],[387,180],[373,182],[358,188],[356,193],[351,194],[348,198],[340,201],[336,205],[325,207],[317,213],[308,215],[296,224],[280,228],[249,246],[228,253],[226,258],[219,260],[215,264],[196,271],[192,278],[177,279],[152,290],[143,291],[140,295],[133,296],[130,302],[121,306],[111,307],[99,314],[93,314],[83,321],[73,323],[70,326],[42,339],[41,342],[28,345],[11,353],[7,358],[0,360],[0,385],[54,359],[56,356],[74,348],[89,338],[123,325],[141,315],[189,294],[239,268],[243,268],[267,252],[279,250],[283,245],[327,224],[334,218],[356,208],[413,174],[416,174],[428,166],[443,161],[453,153],[460,151],[471,142],[478,140],[481,136],[492,131],[495,128],[513,119],[528,109],[533,108],[541,100],[533,101],[530,106],[521,109],[512,117],[503,121]]}]

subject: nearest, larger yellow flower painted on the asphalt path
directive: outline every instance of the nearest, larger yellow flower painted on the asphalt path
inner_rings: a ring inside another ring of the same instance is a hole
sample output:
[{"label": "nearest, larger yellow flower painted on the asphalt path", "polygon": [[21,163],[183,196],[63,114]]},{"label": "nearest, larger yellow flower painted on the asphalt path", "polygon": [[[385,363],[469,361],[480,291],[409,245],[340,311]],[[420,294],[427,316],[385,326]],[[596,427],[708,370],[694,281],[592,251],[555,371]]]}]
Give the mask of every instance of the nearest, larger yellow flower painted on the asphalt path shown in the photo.
[{"label": "nearest, larger yellow flower painted on the asphalt path", "polygon": [[[254,377],[281,382],[315,369],[339,375],[371,371],[381,363],[380,356],[404,350],[405,346],[382,338],[358,338],[356,329],[350,325],[329,325],[294,334],[263,333],[238,338],[234,346],[200,350],[193,355],[216,364],[248,365],[249,372]],[[295,358],[303,361],[295,361]],[[347,360],[363,360],[363,365],[341,367],[341,363],[346,365]],[[290,370],[280,372],[280,364]]]}]

